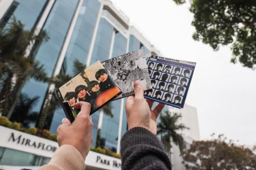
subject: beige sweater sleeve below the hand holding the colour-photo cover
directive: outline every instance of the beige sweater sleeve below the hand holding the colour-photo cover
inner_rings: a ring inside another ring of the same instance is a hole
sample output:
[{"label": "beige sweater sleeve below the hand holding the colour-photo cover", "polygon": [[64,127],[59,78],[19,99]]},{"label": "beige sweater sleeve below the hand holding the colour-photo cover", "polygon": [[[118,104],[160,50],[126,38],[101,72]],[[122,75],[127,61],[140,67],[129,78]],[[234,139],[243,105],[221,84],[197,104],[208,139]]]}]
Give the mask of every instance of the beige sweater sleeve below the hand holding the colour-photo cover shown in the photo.
[{"label": "beige sweater sleeve below the hand holding the colour-photo cover", "polygon": [[38,170],[84,170],[86,164],[82,155],[71,145],[62,145],[57,149],[50,162]]}]

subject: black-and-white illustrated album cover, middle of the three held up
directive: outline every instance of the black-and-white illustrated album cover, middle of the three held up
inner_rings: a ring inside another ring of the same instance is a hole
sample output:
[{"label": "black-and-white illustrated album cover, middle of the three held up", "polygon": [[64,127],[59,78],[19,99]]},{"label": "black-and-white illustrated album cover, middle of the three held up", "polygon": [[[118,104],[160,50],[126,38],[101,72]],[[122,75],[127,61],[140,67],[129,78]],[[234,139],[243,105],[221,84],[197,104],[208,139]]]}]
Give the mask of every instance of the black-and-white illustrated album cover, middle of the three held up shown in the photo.
[{"label": "black-and-white illustrated album cover, middle of the three held up", "polygon": [[103,61],[102,65],[122,90],[122,94],[115,100],[133,95],[133,82],[135,81],[140,81],[144,91],[152,89],[142,49]]}]

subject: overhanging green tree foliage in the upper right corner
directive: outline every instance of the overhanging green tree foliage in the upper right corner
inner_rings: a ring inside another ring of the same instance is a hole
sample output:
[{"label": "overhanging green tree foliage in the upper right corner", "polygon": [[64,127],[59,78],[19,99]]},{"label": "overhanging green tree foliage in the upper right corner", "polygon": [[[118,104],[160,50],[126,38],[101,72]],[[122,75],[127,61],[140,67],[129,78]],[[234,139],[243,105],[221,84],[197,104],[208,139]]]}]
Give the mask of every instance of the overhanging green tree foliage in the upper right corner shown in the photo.
[{"label": "overhanging green tree foliage in the upper right corner", "polygon": [[193,38],[209,44],[215,51],[231,44],[233,58],[243,66],[256,64],[256,1],[194,0],[190,12],[196,28]]}]

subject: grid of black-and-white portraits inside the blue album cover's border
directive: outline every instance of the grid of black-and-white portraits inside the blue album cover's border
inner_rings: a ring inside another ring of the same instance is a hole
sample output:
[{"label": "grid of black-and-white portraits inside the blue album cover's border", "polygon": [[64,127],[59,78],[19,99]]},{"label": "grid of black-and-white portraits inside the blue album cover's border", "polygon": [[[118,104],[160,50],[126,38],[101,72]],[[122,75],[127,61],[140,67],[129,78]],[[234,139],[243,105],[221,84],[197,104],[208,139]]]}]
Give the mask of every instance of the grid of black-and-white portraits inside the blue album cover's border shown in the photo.
[{"label": "grid of black-and-white portraits inside the blue album cover's border", "polygon": [[153,88],[145,95],[164,103],[181,105],[193,70],[152,60],[147,61],[147,66]]}]

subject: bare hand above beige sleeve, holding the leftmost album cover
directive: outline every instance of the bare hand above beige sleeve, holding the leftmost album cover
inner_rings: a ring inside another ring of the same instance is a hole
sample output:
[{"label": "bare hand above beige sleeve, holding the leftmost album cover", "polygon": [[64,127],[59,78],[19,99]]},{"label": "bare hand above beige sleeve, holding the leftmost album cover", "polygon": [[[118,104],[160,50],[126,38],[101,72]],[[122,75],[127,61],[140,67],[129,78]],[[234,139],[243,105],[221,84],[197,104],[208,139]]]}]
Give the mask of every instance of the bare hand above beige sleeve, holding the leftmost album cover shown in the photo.
[{"label": "bare hand above beige sleeve, holding the leftmost album cover", "polygon": [[72,124],[67,118],[62,119],[62,124],[57,129],[57,141],[59,147],[64,144],[72,145],[85,159],[92,145],[91,105],[87,102],[78,102],[73,107],[81,110]]}]

